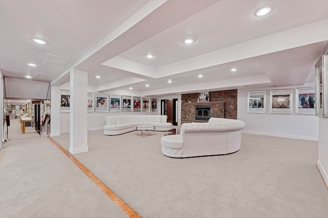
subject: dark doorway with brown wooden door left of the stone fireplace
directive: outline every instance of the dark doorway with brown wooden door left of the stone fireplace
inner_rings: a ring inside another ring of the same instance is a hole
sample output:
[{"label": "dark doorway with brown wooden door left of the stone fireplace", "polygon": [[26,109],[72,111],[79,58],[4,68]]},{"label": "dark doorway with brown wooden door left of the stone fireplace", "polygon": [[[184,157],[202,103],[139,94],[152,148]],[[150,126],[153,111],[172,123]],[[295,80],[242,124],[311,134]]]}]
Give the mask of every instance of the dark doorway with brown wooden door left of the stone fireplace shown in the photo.
[{"label": "dark doorway with brown wooden door left of the stone fireplace", "polygon": [[167,115],[168,122],[178,125],[178,99],[162,99],[160,100],[160,115]]}]

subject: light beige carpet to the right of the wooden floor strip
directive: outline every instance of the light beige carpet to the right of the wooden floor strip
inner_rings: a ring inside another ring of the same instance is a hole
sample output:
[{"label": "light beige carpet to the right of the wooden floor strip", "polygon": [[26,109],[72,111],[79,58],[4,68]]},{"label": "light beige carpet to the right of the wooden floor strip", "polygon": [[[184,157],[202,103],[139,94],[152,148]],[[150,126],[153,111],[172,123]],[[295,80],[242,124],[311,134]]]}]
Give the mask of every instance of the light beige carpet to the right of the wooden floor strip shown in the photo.
[{"label": "light beige carpet to the right of the wooden floor strip", "polygon": [[[161,153],[163,133],[135,133],[89,132],[89,151],[74,157],[142,217],[328,214],[317,142],[242,134],[235,154],[173,159]],[[69,149],[69,134],[53,139]]]}]

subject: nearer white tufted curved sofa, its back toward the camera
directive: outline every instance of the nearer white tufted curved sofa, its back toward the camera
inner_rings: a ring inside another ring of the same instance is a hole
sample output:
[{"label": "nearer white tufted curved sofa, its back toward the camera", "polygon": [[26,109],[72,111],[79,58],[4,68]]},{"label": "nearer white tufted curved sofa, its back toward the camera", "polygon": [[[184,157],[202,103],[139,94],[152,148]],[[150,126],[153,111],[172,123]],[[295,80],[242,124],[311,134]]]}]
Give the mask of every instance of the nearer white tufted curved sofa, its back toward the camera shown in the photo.
[{"label": "nearer white tufted curved sofa, its back toward the camera", "polygon": [[162,153],[172,158],[226,155],[240,149],[241,120],[210,118],[207,123],[183,123],[180,135],[161,138]]}]

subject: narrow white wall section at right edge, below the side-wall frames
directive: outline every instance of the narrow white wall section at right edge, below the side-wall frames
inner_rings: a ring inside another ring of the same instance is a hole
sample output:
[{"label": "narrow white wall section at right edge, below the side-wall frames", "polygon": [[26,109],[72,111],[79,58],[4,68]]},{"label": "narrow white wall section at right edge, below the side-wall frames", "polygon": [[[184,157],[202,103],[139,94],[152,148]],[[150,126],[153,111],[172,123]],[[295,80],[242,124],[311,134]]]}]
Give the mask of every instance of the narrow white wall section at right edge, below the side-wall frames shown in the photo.
[{"label": "narrow white wall section at right edge, below the side-wall frames", "polygon": [[319,118],[318,168],[328,185],[328,118]]}]

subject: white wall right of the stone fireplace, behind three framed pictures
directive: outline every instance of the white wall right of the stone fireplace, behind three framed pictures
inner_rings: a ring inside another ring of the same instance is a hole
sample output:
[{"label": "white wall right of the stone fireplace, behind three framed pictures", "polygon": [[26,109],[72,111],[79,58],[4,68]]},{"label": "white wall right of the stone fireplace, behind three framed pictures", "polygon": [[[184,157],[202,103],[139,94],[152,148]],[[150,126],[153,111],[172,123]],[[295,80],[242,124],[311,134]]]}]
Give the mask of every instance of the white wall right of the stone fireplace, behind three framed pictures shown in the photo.
[{"label": "white wall right of the stone fireplace, behind three framed pictures", "polygon": [[[297,86],[297,88],[314,87],[314,84],[305,86]],[[296,87],[283,87],[283,88],[257,88],[257,89],[239,89],[238,90],[238,114],[239,120],[246,123],[243,133],[278,136],[286,138],[296,138],[305,140],[318,141],[318,122],[319,119],[315,115],[302,115],[295,114],[295,88]],[[293,99],[292,114],[270,114],[269,113],[269,94],[270,90],[292,89]],[[260,113],[247,113],[248,91],[267,91],[267,112]]]}]

